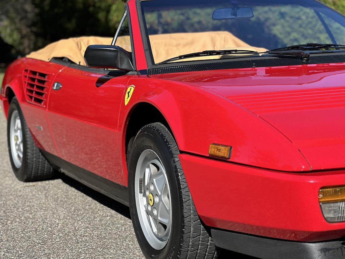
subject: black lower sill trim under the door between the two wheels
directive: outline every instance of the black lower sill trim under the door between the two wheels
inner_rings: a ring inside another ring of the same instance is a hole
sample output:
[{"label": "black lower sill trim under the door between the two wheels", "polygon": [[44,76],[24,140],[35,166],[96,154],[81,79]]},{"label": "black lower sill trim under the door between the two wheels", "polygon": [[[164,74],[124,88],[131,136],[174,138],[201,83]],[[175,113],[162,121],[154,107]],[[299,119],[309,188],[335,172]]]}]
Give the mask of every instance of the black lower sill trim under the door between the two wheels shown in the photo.
[{"label": "black lower sill trim under the door between the two wheels", "polygon": [[60,157],[41,150],[46,159],[71,178],[85,184],[91,189],[98,191],[124,205],[129,206],[127,187],[105,179],[97,174],[87,171],[77,165],[71,164]]}]

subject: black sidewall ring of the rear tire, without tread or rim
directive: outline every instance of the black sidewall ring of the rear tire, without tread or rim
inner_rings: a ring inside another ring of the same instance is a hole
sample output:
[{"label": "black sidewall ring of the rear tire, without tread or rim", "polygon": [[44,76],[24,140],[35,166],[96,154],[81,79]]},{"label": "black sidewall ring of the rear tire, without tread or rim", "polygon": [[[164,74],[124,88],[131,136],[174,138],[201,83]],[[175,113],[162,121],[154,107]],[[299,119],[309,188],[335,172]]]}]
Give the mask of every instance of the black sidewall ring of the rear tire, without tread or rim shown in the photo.
[{"label": "black sidewall ring of the rear tire, without tread or rim", "polygon": [[[22,159],[22,164],[20,168],[17,168],[14,165],[13,162],[13,157],[12,157],[12,151],[11,151],[11,135],[10,135],[10,129],[11,129],[11,117],[14,111],[18,111],[19,117],[20,117],[20,122],[22,125],[22,135],[23,135],[23,159]],[[8,114],[7,114],[7,145],[8,145],[8,150],[9,150],[9,156],[10,156],[10,162],[12,166],[12,170],[14,172],[14,175],[20,180],[20,181],[25,181],[26,180],[26,175],[25,175],[25,168],[27,166],[27,145],[26,145],[26,134],[25,134],[25,121],[24,121],[24,116],[21,112],[18,100],[16,97],[14,97],[10,103]]]}]

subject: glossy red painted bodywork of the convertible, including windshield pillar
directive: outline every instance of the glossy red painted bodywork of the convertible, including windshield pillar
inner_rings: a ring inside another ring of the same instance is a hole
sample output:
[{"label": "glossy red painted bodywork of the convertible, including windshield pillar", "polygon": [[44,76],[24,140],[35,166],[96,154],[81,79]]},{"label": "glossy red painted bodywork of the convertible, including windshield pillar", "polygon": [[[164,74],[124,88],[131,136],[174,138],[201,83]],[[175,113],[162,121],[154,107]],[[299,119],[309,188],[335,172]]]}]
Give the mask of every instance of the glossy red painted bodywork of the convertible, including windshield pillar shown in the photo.
[{"label": "glossy red painted bodywork of the convertible, including windshield pillar", "polygon": [[[136,1],[128,8],[136,70],[145,71]],[[26,69],[49,75],[43,105],[26,98]],[[107,77],[21,58],[7,68],[0,99],[7,115],[11,94],[18,98],[41,150],[125,187],[131,116],[154,107],[207,226],[316,242],[345,236],[345,222],[328,223],[318,202],[322,187],[345,184],[344,78],[344,63]],[[232,146],[231,158],[210,157],[211,143]]]}]

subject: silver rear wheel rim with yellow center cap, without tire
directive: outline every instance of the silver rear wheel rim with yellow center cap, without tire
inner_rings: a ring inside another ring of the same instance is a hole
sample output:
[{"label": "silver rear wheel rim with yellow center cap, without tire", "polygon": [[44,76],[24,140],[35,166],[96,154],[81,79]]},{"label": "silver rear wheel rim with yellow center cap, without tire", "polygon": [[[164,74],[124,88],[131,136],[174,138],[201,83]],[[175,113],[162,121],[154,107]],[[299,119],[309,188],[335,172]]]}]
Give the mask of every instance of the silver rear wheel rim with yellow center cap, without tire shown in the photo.
[{"label": "silver rear wheel rim with yellow center cap, without tire", "polygon": [[10,143],[14,165],[19,169],[23,162],[23,133],[18,111],[14,111],[10,122]]}]

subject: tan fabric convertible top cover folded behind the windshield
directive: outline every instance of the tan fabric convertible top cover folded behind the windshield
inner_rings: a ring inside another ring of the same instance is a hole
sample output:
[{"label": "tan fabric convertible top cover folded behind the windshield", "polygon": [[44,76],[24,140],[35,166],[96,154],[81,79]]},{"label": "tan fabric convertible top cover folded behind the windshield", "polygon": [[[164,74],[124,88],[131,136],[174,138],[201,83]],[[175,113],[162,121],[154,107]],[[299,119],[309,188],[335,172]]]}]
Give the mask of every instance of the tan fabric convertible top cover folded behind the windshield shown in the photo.
[{"label": "tan fabric convertible top cover folded behind the windshield", "polygon": [[[31,52],[29,55],[27,55],[27,57],[44,61],[50,61],[52,58],[66,57],[76,64],[86,66],[84,61],[84,53],[86,48],[89,45],[110,45],[111,41],[112,38],[94,36],[63,39],[53,42],[43,49]],[[266,51],[266,49],[256,48],[248,45],[227,31],[151,35],[150,43],[155,63],[171,57],[203,50],[245,49]],[[131,51],[129,36],[119,37],[116,45],[126,49],[127,51]],[[188,60],[207,58],[213,59],[215,56],[193,58]]]}]

